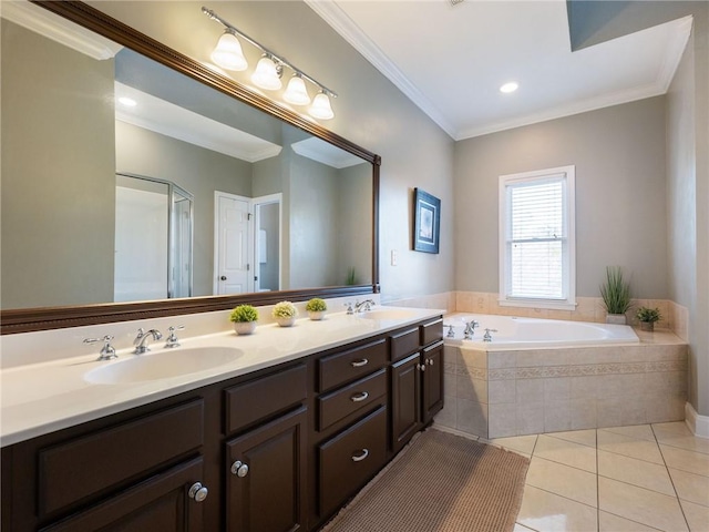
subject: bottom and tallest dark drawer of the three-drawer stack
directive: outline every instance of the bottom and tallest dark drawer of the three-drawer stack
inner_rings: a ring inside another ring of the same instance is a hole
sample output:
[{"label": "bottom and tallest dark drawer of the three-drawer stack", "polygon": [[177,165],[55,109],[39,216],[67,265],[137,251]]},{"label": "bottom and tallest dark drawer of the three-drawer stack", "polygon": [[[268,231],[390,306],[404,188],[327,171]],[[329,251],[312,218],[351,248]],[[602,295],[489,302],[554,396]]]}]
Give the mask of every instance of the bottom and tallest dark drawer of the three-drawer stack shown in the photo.
[{"label": "bottom and tallest dark drawer of the three-drawer stack", "polygon": [[387,407],[318,446],[320,515],[328,515],[359,490],[387,458]]}]

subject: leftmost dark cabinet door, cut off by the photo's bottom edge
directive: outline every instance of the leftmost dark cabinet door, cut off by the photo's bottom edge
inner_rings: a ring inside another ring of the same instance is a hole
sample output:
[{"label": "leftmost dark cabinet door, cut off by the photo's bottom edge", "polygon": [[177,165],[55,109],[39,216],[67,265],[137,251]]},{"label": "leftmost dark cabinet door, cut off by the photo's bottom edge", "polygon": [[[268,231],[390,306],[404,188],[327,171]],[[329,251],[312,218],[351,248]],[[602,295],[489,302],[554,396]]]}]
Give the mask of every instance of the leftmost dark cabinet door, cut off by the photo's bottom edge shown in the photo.
[{"label": "leftmost dark cabinet door, cut off by the photo's bottom edge", "polygon": [[41,532],[202,531],[201,500],[204,500],[202,495],[206,491],[194,497],[191,495],[191,489],[203,479],[203,472],[202,457],[196,458],[156,474],[78,515],[43,528]]}]

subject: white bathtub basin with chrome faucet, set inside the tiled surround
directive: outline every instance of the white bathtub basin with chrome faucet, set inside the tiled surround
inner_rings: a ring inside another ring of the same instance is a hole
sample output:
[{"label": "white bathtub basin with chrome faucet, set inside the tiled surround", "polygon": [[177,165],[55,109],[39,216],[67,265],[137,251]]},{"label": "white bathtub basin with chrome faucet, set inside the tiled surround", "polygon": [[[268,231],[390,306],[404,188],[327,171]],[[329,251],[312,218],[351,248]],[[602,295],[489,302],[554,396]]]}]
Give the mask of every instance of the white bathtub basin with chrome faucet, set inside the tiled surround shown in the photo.
[{"label": "white bathtub basin with chrome faucet, set inside the tiled surround", "polygon": [[[464,340],[465,325],[480,324],[472,340]],[[526,349],[545,347],[596,346],[605,344],[638,344],[640,340],[627,325],[563,321],[556,319],[518,318],[512,316],[452,314],[444,318],[444,337],[449,345],[464,342],[481,349]],[[491,329],[491,342],[484,342],[485,329]],[[451,336],[452,334],[452,336]]]}]

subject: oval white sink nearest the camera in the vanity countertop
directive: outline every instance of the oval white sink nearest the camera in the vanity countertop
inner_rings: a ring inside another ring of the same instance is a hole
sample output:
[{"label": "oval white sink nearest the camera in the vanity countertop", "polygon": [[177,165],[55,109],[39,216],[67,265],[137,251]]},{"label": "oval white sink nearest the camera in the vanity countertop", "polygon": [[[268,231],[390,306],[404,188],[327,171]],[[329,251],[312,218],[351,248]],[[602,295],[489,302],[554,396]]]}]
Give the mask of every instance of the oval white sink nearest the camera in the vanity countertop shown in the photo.
[{"label": "oval white sink nearest the camera in the vanity countertop", "polygon": [[123,360],[101,366],[84,375],[86,382],[119,385],[167,379],[196,374],[229,364],[244,352],[228,347],[176,348],[145,355],[124,355]]}]

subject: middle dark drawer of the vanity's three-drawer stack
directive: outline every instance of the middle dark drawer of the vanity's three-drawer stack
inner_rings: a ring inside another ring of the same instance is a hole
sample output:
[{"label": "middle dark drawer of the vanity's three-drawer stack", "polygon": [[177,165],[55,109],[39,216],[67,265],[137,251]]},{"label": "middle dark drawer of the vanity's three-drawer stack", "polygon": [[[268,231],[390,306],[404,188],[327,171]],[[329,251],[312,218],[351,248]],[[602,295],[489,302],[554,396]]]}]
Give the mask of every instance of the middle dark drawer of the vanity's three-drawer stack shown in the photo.
[{"label": "middle dark drawer of the vanity's three-drawer stack", "polygon": [[318,398],[318,430],[322,431],[350,413],[371,405],[387,393],[387,370],[352,382]]}]

